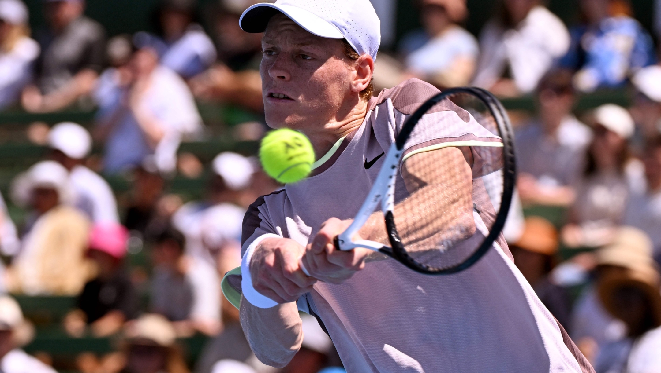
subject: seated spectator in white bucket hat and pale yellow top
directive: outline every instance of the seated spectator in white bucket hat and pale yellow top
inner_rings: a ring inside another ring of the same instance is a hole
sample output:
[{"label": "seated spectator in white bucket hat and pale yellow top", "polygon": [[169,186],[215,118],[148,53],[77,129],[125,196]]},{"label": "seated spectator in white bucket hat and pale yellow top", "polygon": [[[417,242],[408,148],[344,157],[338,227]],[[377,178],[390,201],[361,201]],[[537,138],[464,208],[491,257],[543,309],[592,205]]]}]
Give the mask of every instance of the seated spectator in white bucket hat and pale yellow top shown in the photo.
[{"label": "seated spectator in white bucket hat and pale yellow top", "polygon": [[89,221],[67,206],[71,191],[66,168],[52,160],[39,162],[13,187],[20,189],[15,191],[15,202],[30,204],[35,216],[9,269],[9,290],[28,295],[79,294],[91,275],[91,263],[84,255]]}]

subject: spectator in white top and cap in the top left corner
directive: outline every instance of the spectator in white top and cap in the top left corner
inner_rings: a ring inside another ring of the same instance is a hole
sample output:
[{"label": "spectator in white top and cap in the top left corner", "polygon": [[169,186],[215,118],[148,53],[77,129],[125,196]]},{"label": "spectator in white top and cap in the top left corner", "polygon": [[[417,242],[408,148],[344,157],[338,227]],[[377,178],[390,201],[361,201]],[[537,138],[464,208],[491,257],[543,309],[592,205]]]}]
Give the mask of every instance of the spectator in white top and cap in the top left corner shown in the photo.
[{"label": "spectator in white top and cap in the top left corner", "polygon": [[40,48],[29,35],[25,4],[20,0],[0,1],[0,110],[17,102],[32,79]]}]

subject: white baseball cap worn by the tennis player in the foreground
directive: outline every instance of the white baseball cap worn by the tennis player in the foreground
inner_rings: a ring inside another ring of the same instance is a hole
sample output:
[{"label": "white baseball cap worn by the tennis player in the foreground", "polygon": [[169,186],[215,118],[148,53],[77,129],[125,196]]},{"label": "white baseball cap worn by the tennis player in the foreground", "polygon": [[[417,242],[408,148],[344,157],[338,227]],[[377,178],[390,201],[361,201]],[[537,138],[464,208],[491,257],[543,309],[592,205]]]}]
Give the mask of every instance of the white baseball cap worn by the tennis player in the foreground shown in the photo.
[{"label": "white baseball cap worn by the tennis player in the foreground", "polygon": [[359,55],[376,59],[381,21],[369,0],[278,0],[246,9],[239,19],[245,32],[264,32],[278,11],[306,31],[322,38],[346,39]]}]

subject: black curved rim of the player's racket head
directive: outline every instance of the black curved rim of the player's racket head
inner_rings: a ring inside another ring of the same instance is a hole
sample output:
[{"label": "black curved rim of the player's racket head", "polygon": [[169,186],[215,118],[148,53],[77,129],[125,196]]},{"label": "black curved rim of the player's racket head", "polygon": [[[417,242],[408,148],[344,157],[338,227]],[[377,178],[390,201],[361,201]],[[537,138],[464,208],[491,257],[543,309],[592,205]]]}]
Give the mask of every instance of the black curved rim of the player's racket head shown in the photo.
[{"label": "black curved rim of the player's racket head", "polygon": [[[406,265],[408,268],[423,273],[425,275],[451,275],[453,273],[459,273],[465,271],[472,267],[479,259],[481,259],[489,248],[496,241],[502,228],[505,226],[508,213],[510,211],[510,206],[512,205],[512,197],[514,195],[514,184],[516,184],[516,161],[514,158],[514,137],[512,132],[512,123],[510,123],[510,118],[508,117],[505,108],[502,106],[500,101],[493,96],[490,92],[483,88],[477,87],[457,87],[449,88],[444,92],[436,94],[436,96],[430,98],[418,110],[416,110],[410,118],[404,123],[402,130],[400,131],[395,143],[397,144],[397,149],[402,150],[408,136],[413,131],[415,125],[418,123],[420,118],[424,115],[427,110],[429,110],[438,102],[447,98],[452,94],[457,93],[469,93],[477,96],[481,101],[483,101],[486,107],[489,109],[490,113],[494,118],[496,118],[496,123],[498,123],[498,131],[500,131],[500,137],[503,142],[503,194],[502,201],[500,203],[500,209],[496,215],[496,220],[491,226],[489,234],[486,236],[485,240],[482,242],[481,246],[469,256],[465,261],[453,265],[447,268],[436,268],[431,267],[430,265],[418,263],[404,248],[404,245],[401,242],[399,233],[397,232],[397,227],[395,226],[395,218],[392,211],[388,211],[385,214],[385,226],[388,232],[388,240],[391,244],[391,250],[383,250],[383,254],[387,254],[394,259],[397,259],[403,265]],[[385,249],[385,248],[384,248]],[[381,251],[381,250],[379,250]]]}]

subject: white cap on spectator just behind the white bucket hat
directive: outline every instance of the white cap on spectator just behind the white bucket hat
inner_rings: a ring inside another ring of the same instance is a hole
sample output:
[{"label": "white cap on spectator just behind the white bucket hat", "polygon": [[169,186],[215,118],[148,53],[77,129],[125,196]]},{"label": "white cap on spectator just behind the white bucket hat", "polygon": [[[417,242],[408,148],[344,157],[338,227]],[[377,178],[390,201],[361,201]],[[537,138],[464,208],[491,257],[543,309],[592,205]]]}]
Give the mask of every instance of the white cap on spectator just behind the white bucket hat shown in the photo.
[{"label": "white cap on spectator just behind the white bucket hat", "polygon": [[82,125],[65,121],[54,125],[50,130],[48,146],[61,151],[69,158],[83,159],[92,150],[92,137]]}]

